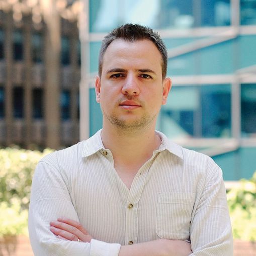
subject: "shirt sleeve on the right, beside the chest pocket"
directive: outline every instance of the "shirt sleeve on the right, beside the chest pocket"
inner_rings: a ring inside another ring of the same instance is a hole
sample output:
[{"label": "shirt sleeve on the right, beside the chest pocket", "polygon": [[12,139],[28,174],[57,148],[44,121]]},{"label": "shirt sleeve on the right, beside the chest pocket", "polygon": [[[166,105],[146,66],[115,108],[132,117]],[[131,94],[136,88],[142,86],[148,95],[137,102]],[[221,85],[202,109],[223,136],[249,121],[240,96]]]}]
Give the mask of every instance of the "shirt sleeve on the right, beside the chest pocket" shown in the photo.
[{"label": "shirt sleeve on the right, beside the chest pocket", "polygon": [[205,186],[191,221],[191,256],[231,256],[233,236],[221,169],[209,158]]}]

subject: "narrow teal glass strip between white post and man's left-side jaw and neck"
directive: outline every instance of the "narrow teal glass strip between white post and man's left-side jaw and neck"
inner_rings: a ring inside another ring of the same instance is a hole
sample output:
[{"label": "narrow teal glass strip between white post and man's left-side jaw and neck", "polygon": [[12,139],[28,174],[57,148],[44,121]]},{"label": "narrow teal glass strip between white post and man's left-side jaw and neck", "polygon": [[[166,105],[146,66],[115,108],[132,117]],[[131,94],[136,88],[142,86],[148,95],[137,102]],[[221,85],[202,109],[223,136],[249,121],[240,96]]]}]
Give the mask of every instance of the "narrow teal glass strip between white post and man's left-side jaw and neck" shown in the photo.
[{"label": "narrow teal glass strip between white post and man's left-side jaw and neck", "polygon": [[94,88],[89,89],[89,104],[90,104],[90,136],[95,134],[99,129],[102,128],[102,112],[100,104],[96,102]]}]

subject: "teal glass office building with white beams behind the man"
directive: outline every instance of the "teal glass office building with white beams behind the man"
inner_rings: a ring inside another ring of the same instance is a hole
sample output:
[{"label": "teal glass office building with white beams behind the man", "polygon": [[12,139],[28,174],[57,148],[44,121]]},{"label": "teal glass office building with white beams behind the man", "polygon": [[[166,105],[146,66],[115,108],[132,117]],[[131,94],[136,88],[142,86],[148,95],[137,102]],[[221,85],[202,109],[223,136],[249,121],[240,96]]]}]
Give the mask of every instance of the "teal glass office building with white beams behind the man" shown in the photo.
[{"label": "teal glass office building with white beams behind the man", "polygon": [[90,107],[88,113],[80,109],[81,132],[92,135],[102,126],[94,77],[104,35],[128,22],[147,25],[167,46],[167,75],[173,81],[157,129],[178,144],[213,157],[225,180],[251,177],[256,170],[256,0],[84,4],[80,88],[85,92],[81,105],[89,100]]}]

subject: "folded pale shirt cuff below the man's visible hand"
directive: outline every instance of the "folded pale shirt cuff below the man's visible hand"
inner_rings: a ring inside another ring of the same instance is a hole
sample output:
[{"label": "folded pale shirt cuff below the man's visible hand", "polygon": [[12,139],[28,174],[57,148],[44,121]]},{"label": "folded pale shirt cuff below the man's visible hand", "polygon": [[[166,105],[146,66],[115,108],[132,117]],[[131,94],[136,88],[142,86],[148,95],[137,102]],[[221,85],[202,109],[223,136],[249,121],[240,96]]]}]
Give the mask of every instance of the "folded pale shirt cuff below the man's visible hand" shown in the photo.
[{"label": "folded pale shirt cuff below the man's visible hand", "polygon": [[91,239],[90,256],[118,256],[121,244]]}]

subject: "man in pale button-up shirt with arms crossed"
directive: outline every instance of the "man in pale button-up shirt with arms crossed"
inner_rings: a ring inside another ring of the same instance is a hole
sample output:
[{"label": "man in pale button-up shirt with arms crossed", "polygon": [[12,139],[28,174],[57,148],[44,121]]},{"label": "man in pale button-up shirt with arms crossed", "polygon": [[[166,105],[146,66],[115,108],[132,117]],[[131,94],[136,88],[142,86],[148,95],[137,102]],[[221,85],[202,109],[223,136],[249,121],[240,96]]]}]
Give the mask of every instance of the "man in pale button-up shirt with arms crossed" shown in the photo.
[{"label": "man in pale button-up shirt with arms crossed", "polygon": [[36,169],[29,209],[35,255],[231,256],[220,168],[155,131],[171,87],[151,29],[126,24],[102,42],[96,100],[103,128]]}]

